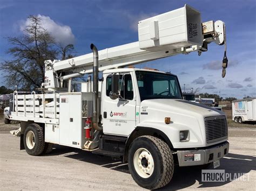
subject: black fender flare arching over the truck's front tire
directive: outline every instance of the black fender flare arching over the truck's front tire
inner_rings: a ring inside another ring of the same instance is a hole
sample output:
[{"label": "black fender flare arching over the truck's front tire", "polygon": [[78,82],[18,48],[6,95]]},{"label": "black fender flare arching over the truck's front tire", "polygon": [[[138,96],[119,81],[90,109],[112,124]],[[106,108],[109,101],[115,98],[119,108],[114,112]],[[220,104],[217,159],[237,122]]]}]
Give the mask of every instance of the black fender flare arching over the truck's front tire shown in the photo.
[{"label": "black fender flare arching over the truck's front tire", "polygon": [[157,137],[163,140],[165,143],[167,143],[167,145],[171,148],[171,150],[173,149],[173,145],[170,139],[165,135],[163,131],[155,128],[145,127],[145,126],[137,126],[126,140],[123,162],[127,162],[128,151],[133,140],[139,136],[144,136],[144,135],[151,135],[151,136]]}]

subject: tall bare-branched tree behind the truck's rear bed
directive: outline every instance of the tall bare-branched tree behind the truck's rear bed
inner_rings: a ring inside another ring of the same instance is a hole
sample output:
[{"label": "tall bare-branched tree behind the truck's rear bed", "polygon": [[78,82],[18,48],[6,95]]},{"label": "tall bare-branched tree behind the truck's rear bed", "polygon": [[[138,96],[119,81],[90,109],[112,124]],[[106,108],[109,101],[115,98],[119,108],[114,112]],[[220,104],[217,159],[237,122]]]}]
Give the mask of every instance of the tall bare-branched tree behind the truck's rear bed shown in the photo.
[{"label": "tall bare-branched tree behind the truck's rear bed", "polygon": [[7,53],[14,59],[5,60],[0,69],[4,72],[6,84],[17,85],[19,89],[31,90],[41,87],[44,82],[44,61],[58,58],[72,58],[73,45],[60,46],[55,43],[51,34],[41,25],[41,19],[29,16],[30,25],[19,37],[8,37],[12,45]]}]

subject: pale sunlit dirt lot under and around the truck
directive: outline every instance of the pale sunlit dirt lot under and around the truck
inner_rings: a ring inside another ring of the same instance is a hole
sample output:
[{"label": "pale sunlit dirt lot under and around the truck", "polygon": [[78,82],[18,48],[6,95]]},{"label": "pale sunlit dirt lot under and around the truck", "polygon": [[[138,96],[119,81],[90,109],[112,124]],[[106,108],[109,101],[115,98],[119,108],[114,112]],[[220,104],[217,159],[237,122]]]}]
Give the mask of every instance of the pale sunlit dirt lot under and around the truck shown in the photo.
[{"label": "pale sunlit dirt lot under and around the truck", "polygon": [[[64,146],[56,146],[52,153],[41,157],[28,155],[19,150],[19,138],[10,135],[13,129],[17,124],[0,121],[1,190],[143,190],[133,181],[127,164],[109,157]],[[218,169],[232,176],[245,173],[245,181],[201,182],[197,167],[177,167],[163,190],[255,190],[256,130],[230,128],[229,135],[230,154],[220,160]]]}]

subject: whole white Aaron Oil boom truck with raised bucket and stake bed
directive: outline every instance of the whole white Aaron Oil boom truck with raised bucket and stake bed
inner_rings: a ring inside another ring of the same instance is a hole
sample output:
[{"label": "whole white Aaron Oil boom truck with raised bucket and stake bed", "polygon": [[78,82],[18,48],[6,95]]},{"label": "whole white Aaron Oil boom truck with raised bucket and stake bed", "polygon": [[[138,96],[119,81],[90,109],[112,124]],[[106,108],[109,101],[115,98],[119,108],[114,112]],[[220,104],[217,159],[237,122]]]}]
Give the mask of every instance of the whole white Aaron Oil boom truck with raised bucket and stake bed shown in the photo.
[{"label": "whole white Aaron Oil boom truck with raised bucket and stake bed", "polygon": [[[122,158],[147,189],[167,185],[174,164],[219,165],[228,153],[224,112],[183,100],[176,75],[124,68],[225,44],[225,25],[201,23],[185,5],[138,22],[139,41],[63,61],[45,61],[44,93],[14,92],[11,120],[21,121],[21,149],[31,155],[52,144]],[[227,65],[224,60],[223,67]],[[98,72],[103,72],[99,80]],[[92,74],[73,92],[73,77]]]}]

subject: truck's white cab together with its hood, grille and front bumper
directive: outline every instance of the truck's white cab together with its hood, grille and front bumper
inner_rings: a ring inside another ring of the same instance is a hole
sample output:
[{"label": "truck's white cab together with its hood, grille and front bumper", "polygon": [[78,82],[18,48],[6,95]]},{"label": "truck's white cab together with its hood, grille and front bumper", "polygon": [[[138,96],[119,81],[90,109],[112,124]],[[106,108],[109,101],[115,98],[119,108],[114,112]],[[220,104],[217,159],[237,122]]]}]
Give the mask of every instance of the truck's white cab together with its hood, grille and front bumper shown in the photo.
[{"label": "truck's white cab together with its hood, grille and front bumper", "polygon": [[[114,75],[118,76],[118,96],[111,96],[112,87],[116,86],[113,85]],[[177,152],[180,166],[209,163],[228,153],[224,112],[183,100],[176,75],[124,68],[105,70],[103,79],[102,123],[105,135],[124,136],[128,140],[136,137],[134,133],[158,135]],[[205,152],[206,147],[213,145],[218,146],[216,151]],[[189,148],[187,152],[185,148]],[[189,154],[191,158],[186,157]],[[199,159],[195,159],[194,154],[200,155]]]}]

